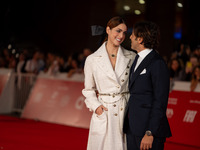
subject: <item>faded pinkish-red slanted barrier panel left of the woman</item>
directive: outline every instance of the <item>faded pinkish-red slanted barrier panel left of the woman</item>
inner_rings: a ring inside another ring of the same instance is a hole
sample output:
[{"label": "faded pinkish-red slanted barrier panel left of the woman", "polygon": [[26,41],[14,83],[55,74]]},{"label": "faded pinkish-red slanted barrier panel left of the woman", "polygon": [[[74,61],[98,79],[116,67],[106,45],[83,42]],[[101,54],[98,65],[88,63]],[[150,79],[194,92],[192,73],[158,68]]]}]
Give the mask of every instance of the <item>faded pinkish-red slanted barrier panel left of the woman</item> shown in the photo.
[{"label": "faded pinkish-red slanted barrier panel left of the woman", "polygon": [[91,112],[85,107],[83,87],[82,81],[39,77],[22,117],[88,128]]}]

